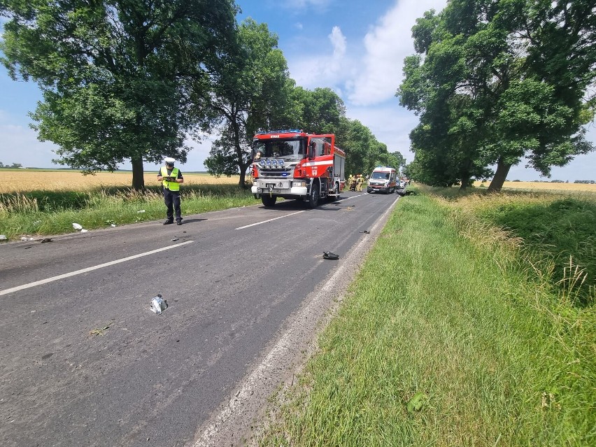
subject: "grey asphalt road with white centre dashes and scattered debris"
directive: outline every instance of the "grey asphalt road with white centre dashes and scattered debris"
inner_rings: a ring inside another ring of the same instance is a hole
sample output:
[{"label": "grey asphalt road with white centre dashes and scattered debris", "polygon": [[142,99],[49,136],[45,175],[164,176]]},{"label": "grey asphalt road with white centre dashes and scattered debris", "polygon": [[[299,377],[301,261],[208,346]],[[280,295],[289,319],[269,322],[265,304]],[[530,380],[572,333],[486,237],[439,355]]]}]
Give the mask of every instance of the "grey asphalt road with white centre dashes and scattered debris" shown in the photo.
[{"label": "grey asphalt road with white centre dashes and scattered debris", "polygon": [[238,445],[397,199],[347,192],[315,210],[2,244],[0,445]]}]

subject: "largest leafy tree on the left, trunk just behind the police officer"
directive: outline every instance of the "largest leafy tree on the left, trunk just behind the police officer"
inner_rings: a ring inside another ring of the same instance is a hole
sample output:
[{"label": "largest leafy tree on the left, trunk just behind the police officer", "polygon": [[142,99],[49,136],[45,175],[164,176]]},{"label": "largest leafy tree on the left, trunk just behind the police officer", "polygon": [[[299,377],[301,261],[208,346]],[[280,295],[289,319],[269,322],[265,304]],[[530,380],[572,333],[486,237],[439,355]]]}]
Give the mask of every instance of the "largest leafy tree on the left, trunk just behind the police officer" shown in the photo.
[{"label": "largest leafy tree on the left, trunk just behind the police officer", "polygon": [[143,162],[185,162],[185,135],[208,124],[189,113],[189,87],[225,53],[235,13],[232,0],[3,0],[1,62],[41,88],[31,116],[57,162],[93,172],[129,159],[139,189]]}]

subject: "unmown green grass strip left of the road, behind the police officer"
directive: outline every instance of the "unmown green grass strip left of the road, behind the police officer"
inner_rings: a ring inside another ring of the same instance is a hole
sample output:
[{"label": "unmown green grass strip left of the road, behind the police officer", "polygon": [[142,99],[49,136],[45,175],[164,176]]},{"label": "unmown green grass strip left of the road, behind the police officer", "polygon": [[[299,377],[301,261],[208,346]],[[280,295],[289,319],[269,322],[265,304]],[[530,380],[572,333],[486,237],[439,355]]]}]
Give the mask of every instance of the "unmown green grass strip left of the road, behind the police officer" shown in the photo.
[{"label": "unmown green grass strip left of the road, behind the police officer", "polygon": [[[250,190],[241,190],[237,185],[185,185],[180,194],[183,217],[260,203]],[[113,187],[87,192],[37,190],[0,194],[0,234],[9,241],[24,235],[70,233],[74,231],[73,222],[85,229],[98,229],[165,217],[159,186],[144,192]]]}]

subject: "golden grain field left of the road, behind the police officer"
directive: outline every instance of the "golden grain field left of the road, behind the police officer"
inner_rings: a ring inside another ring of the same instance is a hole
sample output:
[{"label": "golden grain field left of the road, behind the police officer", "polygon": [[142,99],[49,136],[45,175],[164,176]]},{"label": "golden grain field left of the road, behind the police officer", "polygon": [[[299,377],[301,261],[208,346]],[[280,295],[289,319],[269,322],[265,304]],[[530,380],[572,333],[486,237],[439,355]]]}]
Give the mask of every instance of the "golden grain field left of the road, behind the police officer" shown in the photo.
[{"label": "golden grain field left of the road, behind the police officer", "polygon": [[[183,173],[185,185],[236,184],[238,176],[215,178],[209,174]],[[18,190],[15,191],[15,185]],[[0,194],[7,192],[89,191],[114,186],[131,186],[132,172],[99,172],[83,176],[78,171],[3,171],[0,170]],[[158,185],[157,171],[145,173],[145,185]]]}]

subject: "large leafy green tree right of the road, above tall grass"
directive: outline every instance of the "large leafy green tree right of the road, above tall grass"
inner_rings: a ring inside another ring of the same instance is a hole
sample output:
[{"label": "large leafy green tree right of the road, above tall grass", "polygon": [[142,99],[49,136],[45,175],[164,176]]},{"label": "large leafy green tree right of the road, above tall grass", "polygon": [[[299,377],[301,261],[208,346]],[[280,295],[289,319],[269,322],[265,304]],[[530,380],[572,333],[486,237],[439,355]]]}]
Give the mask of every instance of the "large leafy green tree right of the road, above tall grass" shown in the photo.
[{"label": "large leafy green tree right of the road, above tall grass", "polygon": [[416,175],[440,178],[444,160],[447,183],[464,187],[496,164],[498,191],[523,157],[548,176],[593,150],[582,126],[593,118],[595,12],[588,0],[452,0],[425,13],[397,92],[420,115]]}]

